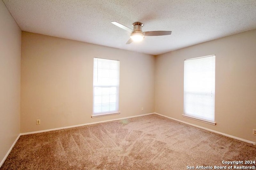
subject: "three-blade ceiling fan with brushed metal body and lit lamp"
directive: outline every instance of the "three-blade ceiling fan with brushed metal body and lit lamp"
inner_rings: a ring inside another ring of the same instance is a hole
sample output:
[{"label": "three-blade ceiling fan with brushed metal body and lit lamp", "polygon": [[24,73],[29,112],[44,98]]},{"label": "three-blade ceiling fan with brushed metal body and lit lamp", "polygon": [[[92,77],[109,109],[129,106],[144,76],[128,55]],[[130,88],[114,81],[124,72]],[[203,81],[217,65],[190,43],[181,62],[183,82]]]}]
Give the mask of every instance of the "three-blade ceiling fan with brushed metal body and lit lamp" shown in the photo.
[{"label": "three-blade ceiling fan with brushed metal body and lit lamp", "polygon": [[171,31],[146,31],[146,32],[142,32],[142,27],[143,24],[141,22],[134,22],[132,24],[133,30],[131,28],[128,28],[122,24],[119,24],[118,22],[111,22],[112,24],[128,31],[131,33],[130,39],[128,40],[128,42],[126,42],[126,44],[130,44],[133,41],[134,42],[140,42],[143,40],[143,38],[145,36],[166,36],[166,35],[171,35],[172,32]]}]

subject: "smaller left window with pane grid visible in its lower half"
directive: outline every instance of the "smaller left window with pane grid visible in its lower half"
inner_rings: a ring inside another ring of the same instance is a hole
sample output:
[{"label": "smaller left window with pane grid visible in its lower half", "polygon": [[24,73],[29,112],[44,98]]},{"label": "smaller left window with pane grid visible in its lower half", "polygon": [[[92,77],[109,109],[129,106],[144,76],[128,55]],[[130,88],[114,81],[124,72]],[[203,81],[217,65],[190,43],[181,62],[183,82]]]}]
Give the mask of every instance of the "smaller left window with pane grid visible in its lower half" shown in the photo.
[{"label": "smaller left window with pane grid visible in its lower half", "polygon": [[118,101],[119,61],[94,58],[92,117],[120,114]]}]

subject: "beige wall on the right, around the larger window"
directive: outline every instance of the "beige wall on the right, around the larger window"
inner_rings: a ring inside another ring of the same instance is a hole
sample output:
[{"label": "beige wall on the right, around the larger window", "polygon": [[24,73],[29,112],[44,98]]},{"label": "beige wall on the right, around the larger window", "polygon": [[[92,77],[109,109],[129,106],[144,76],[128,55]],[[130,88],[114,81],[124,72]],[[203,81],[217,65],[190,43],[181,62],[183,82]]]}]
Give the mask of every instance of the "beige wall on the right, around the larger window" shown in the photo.
[{"label": "beige wall on the right, around the larger window", "polygon": [[[256,30],[156,57],[156,113],[256,142]],[[184,59],[216,55],[216,126],[183,118]]]}]

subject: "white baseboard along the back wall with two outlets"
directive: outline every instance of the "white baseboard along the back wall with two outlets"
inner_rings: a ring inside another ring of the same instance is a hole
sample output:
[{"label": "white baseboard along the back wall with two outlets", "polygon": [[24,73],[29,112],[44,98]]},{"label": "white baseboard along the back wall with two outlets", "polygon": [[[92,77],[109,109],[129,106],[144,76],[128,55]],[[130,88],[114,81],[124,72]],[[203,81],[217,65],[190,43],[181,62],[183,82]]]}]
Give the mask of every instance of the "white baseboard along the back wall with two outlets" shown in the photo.
[{"label": "white baseboard along the back wall with two outlets", "polygon": [[155,114],[155,113],[147,113],[147,114],[144,114],[144,115],[136,115],[136,116],[130,116],[130,117],[124,117],[124,118],[118,118],[118,119],[110,119],[110,120],[106,120],[106,121],[98,121],[98,122],[93,122],[93,123],[85,123],[85,124],[81,124],[81,125],[74,125],[74,126],[68,126],[68,127],[60,127],[60,128],[52,128],[52,129],[40,130],[40,131],[34,131],[34,132],[26,132],[26,133],[21,133],[20,135],[49,132],[49,131],[53,131],[53,130],[61,130],[61,129],[73,128],[73,127],[81,127],[81,126],[85,126],[85,125],[93,125],[93,124],[110,122],[110,121],[118,121],[118,120],[122,120],[122,119],[129,119],[129,118],[133,118],[133,117],[140,117],[140,116],[146,116],[146,115],[151,115],[151,114]]}]

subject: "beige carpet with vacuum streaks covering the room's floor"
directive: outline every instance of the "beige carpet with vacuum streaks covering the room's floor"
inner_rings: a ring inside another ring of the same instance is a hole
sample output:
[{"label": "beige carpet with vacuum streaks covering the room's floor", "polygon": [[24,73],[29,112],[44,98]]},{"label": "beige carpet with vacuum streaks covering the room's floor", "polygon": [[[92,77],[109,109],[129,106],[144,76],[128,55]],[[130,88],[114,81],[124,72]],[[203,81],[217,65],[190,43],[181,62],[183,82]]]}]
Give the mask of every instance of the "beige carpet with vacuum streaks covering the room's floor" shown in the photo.
[{"label": "beige carpet with vacuum streaks covering the room's floor", "polygon": [[256,160],[256,148],[154,114],[20,136],[0,169],[183,170],[223,160]]}]

